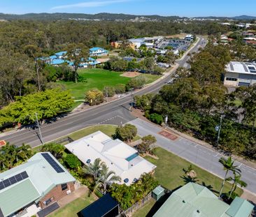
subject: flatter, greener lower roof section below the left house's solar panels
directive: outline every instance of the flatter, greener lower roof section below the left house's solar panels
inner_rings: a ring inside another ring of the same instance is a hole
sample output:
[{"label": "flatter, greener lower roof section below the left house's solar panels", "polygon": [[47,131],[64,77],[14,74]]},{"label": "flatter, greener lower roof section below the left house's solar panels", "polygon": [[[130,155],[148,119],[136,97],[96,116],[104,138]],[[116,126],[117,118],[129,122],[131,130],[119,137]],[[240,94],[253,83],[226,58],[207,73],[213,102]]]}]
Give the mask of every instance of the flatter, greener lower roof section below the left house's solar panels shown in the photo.
[{"label": "flatter, greener lower roof section below the left house's solar panels", "polygon": [[15,186],[8,187],[8,189],[1,193],[0,197],[0,207],[3,216],[13,214],[13,211],[21,209],[24,207],[24,204],[34,202],[38,197],[40,197],[40,194],[29,179],[25,179]]}]

